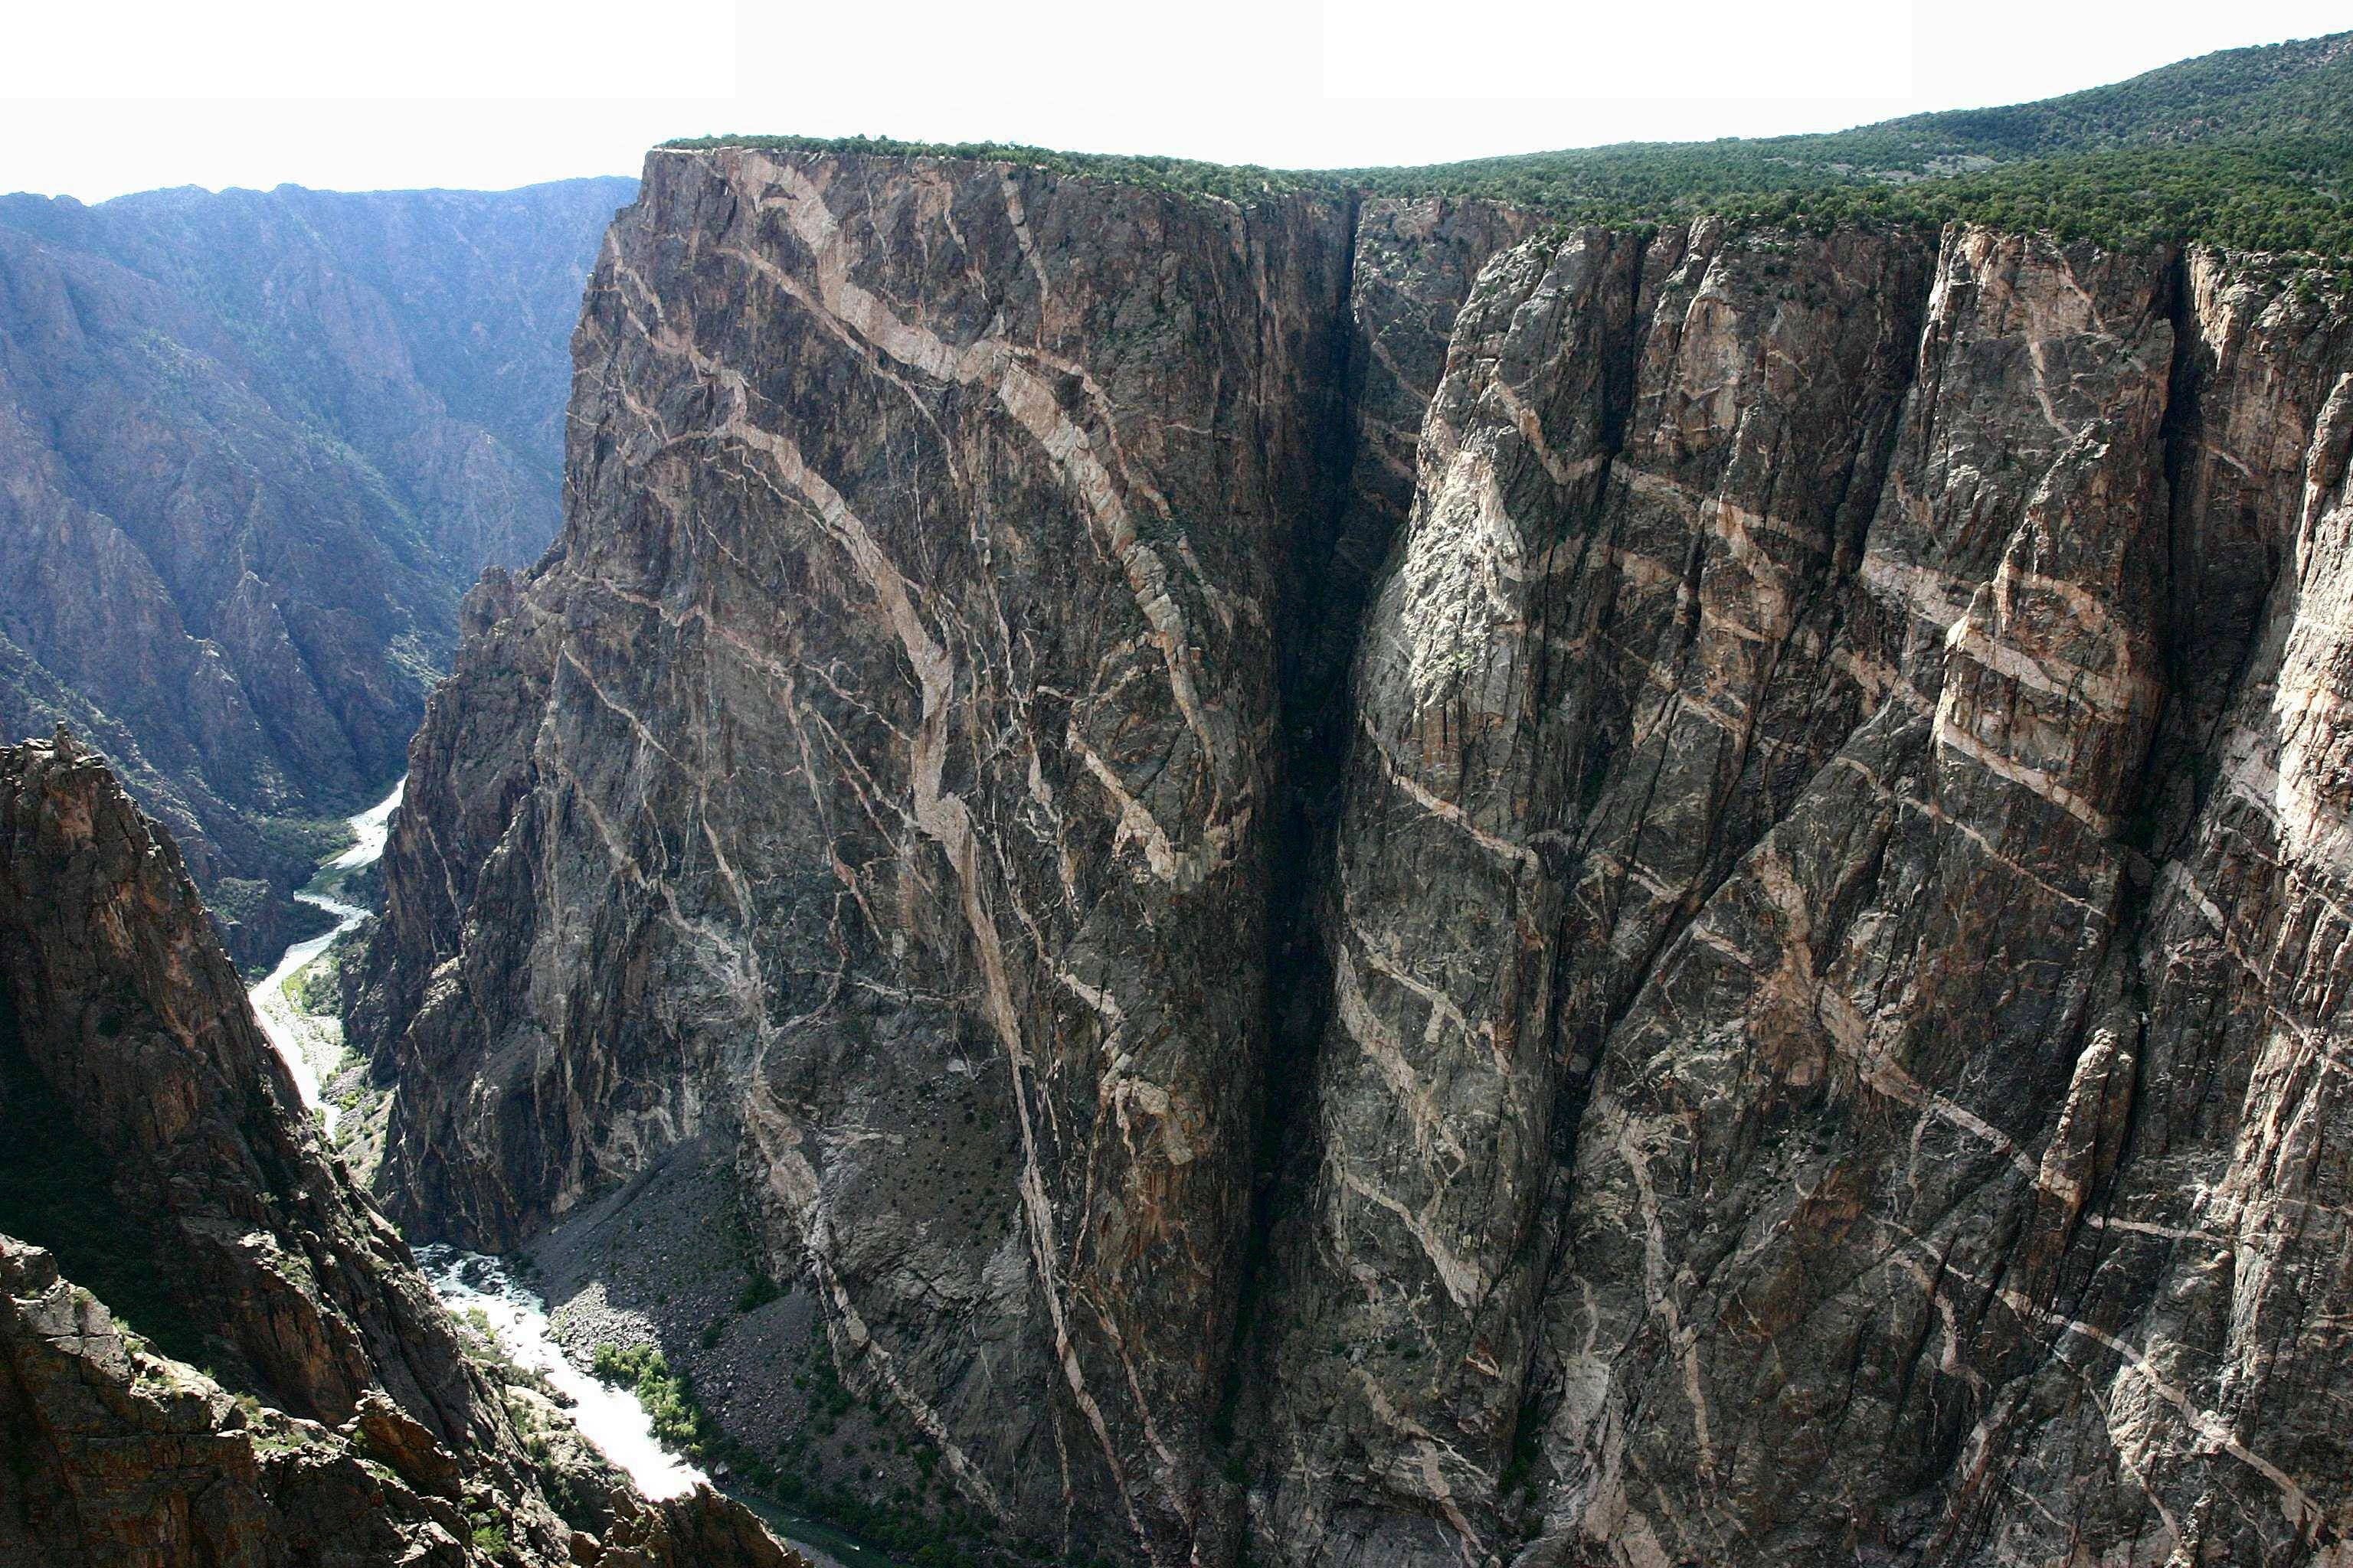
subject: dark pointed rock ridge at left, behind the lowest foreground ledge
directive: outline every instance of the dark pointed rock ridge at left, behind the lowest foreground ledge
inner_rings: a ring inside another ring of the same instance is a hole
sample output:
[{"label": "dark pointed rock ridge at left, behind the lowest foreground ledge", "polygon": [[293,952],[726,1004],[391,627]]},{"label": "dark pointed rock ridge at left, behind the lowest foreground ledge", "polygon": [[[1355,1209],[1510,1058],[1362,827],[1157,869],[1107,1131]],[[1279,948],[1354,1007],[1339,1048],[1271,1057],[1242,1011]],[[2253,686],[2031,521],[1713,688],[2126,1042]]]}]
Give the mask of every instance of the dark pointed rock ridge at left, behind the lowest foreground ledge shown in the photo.
[{"label": "dark pointed rock ridge at left, behind the lowest foreground ledge", "polygon": [[306,1128],[176,849],[71,743],[0,748],[0,1227],[172,1354],[308,1420],[381,1385],[442,1441],[496,1429],[407,1246]]}]

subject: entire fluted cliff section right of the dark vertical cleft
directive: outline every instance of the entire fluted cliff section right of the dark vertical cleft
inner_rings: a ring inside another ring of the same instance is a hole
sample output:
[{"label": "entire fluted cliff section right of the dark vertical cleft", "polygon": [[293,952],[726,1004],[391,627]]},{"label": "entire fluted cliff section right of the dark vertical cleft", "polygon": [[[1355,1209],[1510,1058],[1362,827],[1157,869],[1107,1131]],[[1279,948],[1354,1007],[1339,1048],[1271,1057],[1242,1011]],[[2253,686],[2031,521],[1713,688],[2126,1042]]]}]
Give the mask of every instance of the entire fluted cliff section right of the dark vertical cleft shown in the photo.
[{"label": "entire fluted cliff section right of the dark vertical cleft", "polygon": [[2214,254],[1482,280],[1365,632],[1285,1559],[2334,1561],[2348,374]]}]

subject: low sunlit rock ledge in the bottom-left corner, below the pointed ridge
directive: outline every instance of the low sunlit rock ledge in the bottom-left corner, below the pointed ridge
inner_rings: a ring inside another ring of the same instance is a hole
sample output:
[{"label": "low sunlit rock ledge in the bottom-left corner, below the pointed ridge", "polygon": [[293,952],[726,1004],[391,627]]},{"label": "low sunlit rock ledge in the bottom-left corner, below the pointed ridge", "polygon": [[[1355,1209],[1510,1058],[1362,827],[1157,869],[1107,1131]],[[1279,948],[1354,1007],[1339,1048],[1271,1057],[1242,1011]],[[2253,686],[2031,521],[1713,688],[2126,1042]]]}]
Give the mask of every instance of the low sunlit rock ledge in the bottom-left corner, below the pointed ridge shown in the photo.
[{"label": "low sunlit rock ledge in the bottom-left corner, below the pointed ridge", "polygon": [[0,1561],[807,1568],[701,1488],[605,1500],[602,1537],[515,1500],[381,1394],[339,1427],[155,1354],[42,1248],[0,1237]]}]

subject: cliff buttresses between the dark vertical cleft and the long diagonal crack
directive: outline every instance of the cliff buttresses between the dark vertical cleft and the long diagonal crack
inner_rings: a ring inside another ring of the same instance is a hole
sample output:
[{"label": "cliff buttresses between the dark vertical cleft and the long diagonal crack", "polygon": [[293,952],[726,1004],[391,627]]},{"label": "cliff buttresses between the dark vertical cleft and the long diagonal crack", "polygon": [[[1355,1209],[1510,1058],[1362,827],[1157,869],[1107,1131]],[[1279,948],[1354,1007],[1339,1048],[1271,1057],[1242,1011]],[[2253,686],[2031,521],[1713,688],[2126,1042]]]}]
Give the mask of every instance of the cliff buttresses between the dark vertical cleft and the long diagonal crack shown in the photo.
[{"label": "cliff buttresses between the dark vertical cleft and the long diagonal crack", "polygon": [[1588,233],[1464,313],[1358,665],[1322,1152],[1268,1361],[1282,1535],[1395,1488],[1445,1549],[1508,1462],[1600,1034],[1854,719],[1826,585],[1922,273],[1899,242]]}]

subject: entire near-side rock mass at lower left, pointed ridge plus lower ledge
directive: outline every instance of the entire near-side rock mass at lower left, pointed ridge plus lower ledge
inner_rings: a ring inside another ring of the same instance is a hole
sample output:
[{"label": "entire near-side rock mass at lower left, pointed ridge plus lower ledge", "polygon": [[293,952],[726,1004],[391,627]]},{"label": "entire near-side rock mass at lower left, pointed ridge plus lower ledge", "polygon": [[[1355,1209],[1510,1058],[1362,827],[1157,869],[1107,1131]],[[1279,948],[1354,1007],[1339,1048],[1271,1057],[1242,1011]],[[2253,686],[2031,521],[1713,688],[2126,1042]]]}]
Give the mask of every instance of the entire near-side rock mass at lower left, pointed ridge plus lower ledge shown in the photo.
[{"label": "entire near-side rock mass at lower left, pointed ridge plus lower ledge", "polygon": [[0,1561],[786,1561],[605,1483],[574,1544],[176,849],[64,733],[0,750]]}]

